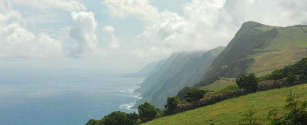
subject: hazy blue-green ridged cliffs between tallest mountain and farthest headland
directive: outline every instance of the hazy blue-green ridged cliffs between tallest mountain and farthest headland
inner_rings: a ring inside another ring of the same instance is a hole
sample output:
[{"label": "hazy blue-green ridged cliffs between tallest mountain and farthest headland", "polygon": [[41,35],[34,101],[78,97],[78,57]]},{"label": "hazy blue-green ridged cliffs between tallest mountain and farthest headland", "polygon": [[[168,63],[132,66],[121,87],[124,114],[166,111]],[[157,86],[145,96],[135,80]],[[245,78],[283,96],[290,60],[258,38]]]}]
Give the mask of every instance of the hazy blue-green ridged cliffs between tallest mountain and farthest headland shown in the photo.
[{"label": "hazy blue-green ridged cliffs between tallest mountain and farthest headland", "polygon": [[208,52],[193,51],[174,53],[166,59],[164,66],[148,76],[140,89],[142,99],[136,106],[150,102],[156,107],[163,108],[168,96],[175,96],[185,86],[192,86],[203,78],[214,58],[217,57],[224,47],[217,47]]}]

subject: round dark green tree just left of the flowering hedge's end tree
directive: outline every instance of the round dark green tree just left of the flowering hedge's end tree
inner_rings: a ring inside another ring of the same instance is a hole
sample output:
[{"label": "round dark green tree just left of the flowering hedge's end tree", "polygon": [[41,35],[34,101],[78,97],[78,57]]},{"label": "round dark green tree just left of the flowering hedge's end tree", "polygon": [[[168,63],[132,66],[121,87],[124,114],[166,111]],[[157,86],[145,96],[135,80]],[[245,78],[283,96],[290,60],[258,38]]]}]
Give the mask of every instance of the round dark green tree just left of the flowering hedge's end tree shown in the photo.
[{"label": "round dark green tree just left of the flowering hedge's end tree", "polygon": [[143,123],[153,120],[158,111],[158,108],[155,108],[153,105],[147,102],[138,106],[138,114]]}]

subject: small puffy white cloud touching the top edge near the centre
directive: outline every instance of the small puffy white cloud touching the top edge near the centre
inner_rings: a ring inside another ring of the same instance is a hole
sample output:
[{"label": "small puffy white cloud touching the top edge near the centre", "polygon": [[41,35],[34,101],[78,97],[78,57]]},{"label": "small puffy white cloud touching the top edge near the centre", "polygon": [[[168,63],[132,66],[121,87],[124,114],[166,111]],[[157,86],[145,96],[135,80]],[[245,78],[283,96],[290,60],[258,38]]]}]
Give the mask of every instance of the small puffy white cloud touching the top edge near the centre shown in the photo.
[{"label": "small puffy white cloud touching the top edge near the centre", "polygon": [[134,16],[156,21],[160,16],[158,9],[149,5],[148,0],[104,0],[101,3],[108,7],[110,16],[115,18]]}]

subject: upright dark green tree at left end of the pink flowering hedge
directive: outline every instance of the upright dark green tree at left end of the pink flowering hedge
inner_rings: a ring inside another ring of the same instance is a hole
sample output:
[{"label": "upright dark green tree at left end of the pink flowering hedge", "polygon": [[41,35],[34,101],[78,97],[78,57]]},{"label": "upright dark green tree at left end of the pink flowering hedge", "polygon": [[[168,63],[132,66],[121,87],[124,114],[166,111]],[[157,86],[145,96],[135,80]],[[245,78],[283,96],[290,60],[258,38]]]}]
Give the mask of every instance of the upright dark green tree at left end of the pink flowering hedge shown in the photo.
[{"label": "upright dark green tree at left end of the pink flowering hedge", "polygon": [[177,105],[180,103],[177,97],[167,97],[167,103],[164,106],[166,115],[172,115],[177,112]]}]

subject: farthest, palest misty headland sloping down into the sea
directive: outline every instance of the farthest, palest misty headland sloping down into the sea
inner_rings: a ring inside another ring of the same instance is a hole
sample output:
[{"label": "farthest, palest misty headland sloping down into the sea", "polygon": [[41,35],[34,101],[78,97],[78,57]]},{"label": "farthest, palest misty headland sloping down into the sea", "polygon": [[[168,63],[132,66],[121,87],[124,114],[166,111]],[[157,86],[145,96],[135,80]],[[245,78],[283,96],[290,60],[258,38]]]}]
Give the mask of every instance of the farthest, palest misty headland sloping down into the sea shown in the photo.
[{"label": "farthest, palest misty headland sloping down into the sea", "polygon": [[126,75],[126,77],[144,77],[144,78],[146,78],[146,77],[148,77],[149,74],[151,74],[151,72],[157,66],[158,63],[159,63],[159,61],[149,63],[144,68],[139,70],[138,72],[128,74],[128,75]]}]

